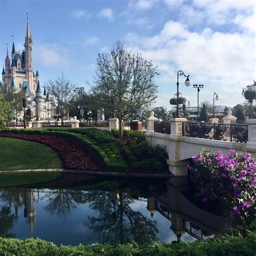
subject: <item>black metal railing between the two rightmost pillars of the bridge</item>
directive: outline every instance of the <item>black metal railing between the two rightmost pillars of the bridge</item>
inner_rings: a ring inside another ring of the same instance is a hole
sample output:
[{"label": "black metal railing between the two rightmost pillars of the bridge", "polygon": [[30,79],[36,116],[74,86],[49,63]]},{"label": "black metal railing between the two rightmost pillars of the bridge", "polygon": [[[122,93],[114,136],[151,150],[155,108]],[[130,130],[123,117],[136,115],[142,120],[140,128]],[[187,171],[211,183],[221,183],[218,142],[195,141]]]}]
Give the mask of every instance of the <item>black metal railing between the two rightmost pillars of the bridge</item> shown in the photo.
[{"label": "black metal railing between the two rightmost pillars of the bridge", "polygon": [[203,139],[225,140],[229,142],[246,143],[248,141],[248,125],[211,124],[186,122],[182,127],[183,136]]}]

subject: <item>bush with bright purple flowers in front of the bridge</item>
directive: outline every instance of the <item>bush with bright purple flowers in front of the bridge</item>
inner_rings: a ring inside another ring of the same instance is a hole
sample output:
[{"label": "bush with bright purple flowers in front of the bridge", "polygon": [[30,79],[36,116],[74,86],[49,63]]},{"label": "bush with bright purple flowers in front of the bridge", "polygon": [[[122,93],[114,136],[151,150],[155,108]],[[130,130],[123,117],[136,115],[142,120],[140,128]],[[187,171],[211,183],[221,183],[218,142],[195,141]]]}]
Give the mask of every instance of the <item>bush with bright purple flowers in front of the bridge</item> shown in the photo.
[{"label": "bush with bright purple flowers in front of the bridge", "polygon": [[255,212],[256,159],[245,152],[206,151],[188,166],[197,196],[203,203],[225,204],[245,217]]}]

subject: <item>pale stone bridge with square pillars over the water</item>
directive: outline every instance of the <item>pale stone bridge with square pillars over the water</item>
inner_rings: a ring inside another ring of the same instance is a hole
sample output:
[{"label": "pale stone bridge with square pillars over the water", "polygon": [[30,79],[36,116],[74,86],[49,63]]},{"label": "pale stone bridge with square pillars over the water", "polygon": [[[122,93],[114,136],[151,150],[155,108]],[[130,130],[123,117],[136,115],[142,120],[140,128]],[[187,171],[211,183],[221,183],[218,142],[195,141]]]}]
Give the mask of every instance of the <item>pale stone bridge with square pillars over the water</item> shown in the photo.
[{"label": "pale stone bridge with square pillars over the water", "polygon": [[168,153],[169,170],[174,176],[187,176],[187,165],[192,156],[197,156],[203,149],[227,153],[230,149],[256,153],[256,119],[247,120],[248,142],[237,143],[213,139],[201,139],[183,136],[182,125],[185,118],[171,119],[171,134],[154,132],[154,121],[157,118],[147,118],[146,140],[153,146],[164,146]]}]

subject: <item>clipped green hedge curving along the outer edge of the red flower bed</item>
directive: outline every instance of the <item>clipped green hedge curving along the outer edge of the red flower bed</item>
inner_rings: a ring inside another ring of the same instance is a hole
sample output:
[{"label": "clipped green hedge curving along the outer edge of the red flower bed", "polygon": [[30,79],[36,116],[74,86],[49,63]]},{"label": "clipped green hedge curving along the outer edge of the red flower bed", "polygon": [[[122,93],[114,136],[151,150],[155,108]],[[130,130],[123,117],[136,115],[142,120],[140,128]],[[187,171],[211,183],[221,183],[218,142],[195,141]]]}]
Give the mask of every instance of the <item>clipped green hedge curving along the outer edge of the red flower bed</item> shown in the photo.
[{"label": "clipped green hedge curving along the outer edge of the red flower bed", "polygon": [[[70,132],[70,130],[72,132]],[[127,165],[125,164],[122,156],[120,155],[119,150],[114,146],[111,141],[111,137],[104,137],[105,134],[102,133],[102,130],[97,129],[81,129],[81,132],[73,131],[77,129],[64,129],[59,131],[55,129],[48,130],[39,130],[39,129],[2,129],[2,133],[19,133],[19,134],[42,134],[42,135],[55,135],[67,137],[70,139],[79,140],[84,147],[87,147],[94,157],[98,158],[99,161],[102,161],[106,165],[108,171],[113,172],[125,172],[127,170]],[[93,130],[93,131],[85,131]],[[97,136],[97,133],[99,136]],[[87,134],[87,135],[85,135]],[[110,134],[110,133],[109,133]],[[91,138],[89,137],[91,136]],[[112,135],[110,135],[112,136]],[[100,137],[104,137],[103,142],[100,143]],[[113,137],[112,137],[113,138]]]}]

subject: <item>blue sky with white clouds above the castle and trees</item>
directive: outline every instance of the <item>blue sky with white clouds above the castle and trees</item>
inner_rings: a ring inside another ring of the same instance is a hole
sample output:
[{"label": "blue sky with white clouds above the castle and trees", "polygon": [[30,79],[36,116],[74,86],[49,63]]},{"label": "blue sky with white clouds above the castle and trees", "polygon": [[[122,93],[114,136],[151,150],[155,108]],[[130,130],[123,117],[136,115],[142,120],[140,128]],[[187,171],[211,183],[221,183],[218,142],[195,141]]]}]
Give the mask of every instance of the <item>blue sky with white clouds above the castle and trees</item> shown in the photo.
[{"label": "blue sky with white clouds above the castle and trees", "polygon": [[[153,106],[171,109],[178,70],[192,85],[205,85],[200,102],[212,102],[215,91],[219,105],[244,102],[241,88],[256,80],[254,0],[1,0],[0,9],[1,64],[11,35],[22,50],[28,12],[42,84],[63,72],[89,90],[85,81],[93,83],[98,53],[109,53],[117,39],[158,66]],[[179,78],[180,92],[196,106],[197,90],[184,81]]]}]

